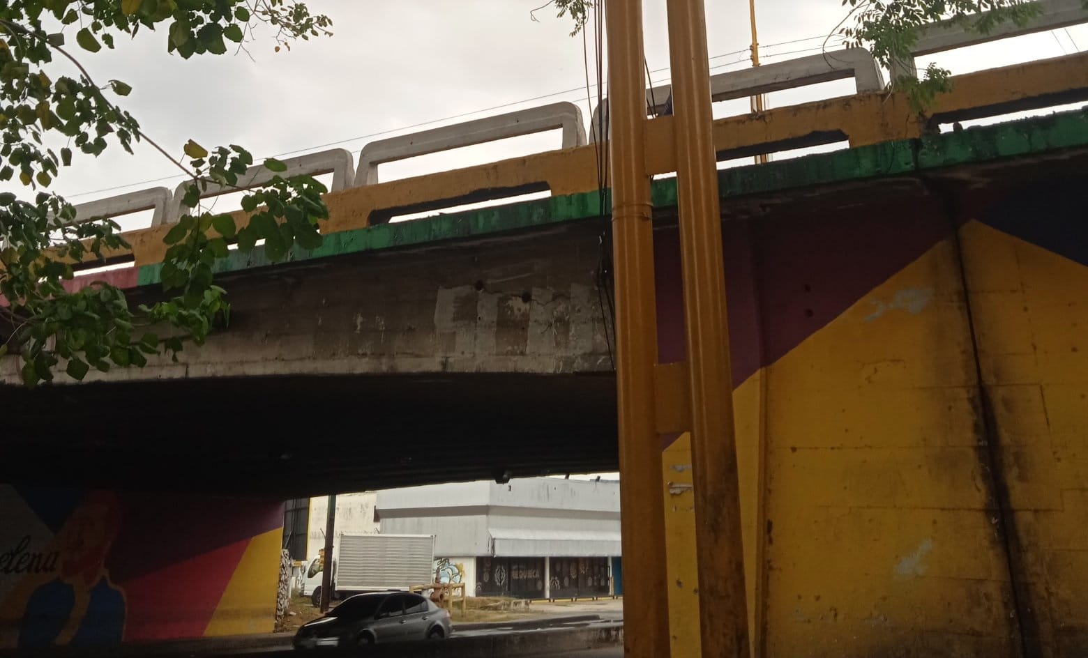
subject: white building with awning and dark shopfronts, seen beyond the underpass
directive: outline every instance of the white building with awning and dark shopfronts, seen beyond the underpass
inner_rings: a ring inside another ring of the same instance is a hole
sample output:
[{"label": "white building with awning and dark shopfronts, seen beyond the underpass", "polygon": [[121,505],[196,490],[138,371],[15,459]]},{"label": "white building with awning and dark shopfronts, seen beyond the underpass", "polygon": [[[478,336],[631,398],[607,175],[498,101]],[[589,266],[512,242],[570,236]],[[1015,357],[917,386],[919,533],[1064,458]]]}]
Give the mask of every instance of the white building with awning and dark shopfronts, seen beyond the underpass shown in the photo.
[{"label": "white building with awning and dark shopfronts, seen beyond the underpass", "polygon": [[463,566],[469,595],[622,592],[618,482],[533,477],[383,491],[376,518],[382,533],[434,535],[435,557]]}]

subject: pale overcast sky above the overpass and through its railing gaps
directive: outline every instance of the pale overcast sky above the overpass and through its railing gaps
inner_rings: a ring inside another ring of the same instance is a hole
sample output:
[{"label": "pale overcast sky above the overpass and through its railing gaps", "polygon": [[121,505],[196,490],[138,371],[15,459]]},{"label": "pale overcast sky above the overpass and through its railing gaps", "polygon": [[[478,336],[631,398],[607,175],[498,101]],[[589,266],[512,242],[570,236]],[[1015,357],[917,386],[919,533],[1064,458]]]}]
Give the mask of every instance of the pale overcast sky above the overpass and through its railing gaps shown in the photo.
[{"label": "pale overcast sky above the overpass and through its railing gaps", "polygon": [[[571,38],[569,20],[556,18],[551,8],[536,13],[539,22],[530,20],[530,10],[540,3],[312,0],[313,11],[333,18],[335,34],[299,42],[290,52],[273,52],[264,33],[247,45],[251,59],[243,53],[184,61],[166,54],[163,30],[119,41],[114,51],[84,53],[83,59],[99,84],[110,78],[129,83],[133,92],[125,107],[150,136],[178,154],[188,138],[206,147],[240,144],[259,158],[320,150],[316,147],[330,142],[357,152],[373,139],[366,135],[393,131],[381,135],[385,137],[456,114],[483,110],[471,116],[477,117],[558,100],[579,103],[588,121],[582,39]],[[667,69],[665,2],[643,4],[647,63],[655,71]],[[766,45],[762,53],[768,62],[818,51],[819,37],[843,15],[839,0],[757,0],[757,11],[759,40]],[[709,0],[707,24],[715,72],[745,66],[747,3]],[[1088,27],[977,47],[939,61],[966,72],[1074,52],[1076,46],[1088,47]],[[592,51],[591,42],[591,59]],[[655,83],[667,78],[667,71],[654,73]],[[769,101],[775,105],[838,96],[850,92],[851,84],[779,92]],[[570,89],[576,90],[486,110]],[[715,114],[741,113],[746,104],[719,103]],[[434,125],[442,124],[425,127]],[[381,175],[391,179],[558,146],[557,133],[544,134],[383,165]],[[172,166],[146,146],[137,147],[136,157],[111,147],[98,159],[77,157],[54,186],[73,202],[157,185],[173,188],[180,177],[151,182],[175,176]],[[132,187],[108,190],[122,185]]]}]

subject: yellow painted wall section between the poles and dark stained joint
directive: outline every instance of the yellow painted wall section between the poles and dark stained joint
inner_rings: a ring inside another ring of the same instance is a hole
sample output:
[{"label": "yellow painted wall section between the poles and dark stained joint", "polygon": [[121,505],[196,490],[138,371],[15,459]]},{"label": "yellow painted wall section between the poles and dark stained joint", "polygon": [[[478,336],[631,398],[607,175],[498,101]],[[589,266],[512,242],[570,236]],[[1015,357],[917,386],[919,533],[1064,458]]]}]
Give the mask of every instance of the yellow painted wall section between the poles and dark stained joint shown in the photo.
[{"label": "yellow painted wall section between the poles and dark stained joint", "polygon": [[767,656],[1014,655],[961,281],[950,238],[764,370]]}]

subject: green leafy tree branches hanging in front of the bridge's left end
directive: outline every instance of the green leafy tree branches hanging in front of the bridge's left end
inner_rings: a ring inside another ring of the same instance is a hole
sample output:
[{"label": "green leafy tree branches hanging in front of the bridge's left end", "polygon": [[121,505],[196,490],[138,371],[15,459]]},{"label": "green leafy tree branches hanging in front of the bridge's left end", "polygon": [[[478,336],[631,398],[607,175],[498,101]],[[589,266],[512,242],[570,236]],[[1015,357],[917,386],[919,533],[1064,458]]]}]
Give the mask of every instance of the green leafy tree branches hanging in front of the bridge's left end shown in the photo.
[{"label": "green leafy tree branches hanging in front of the bridge's left end", "polygon": [[[0,181],[17,179],[33,195],[25,200],[0,194],[0,356],[20,353],[27,385],[51,381],[60,368],[82,380],[91,368],[143,365],[161,351],[176,358],[185,342],[202,343],[227,316],[225,291],[214,285],[212,273],[215,259],[227,256],[228,241],[248,250],[264,240],[272,260],[296,243],[313,247],[320,241],[318,222],[327,216],[320,183],[275,175],[243,198],[243,209],[252,215],[240,228],[230,215],[202,211],[201,191],[210,185],[236,187],[252,156],[236,145],[209,151],[195,140],[172,154],[119,104],[131,87],[119,79],[100,85],[81,63],[141,29],[161,30],[166,50],[186,59],[223,54],[228,42],[251,39],[258,23],[273,28],[276,50],[331,34],[327,16],[292,0],[9,0],[0,5]],[[59,60],[67,60],[79,75],[57,75]],[[74,158],[118,147],[132,152],[139,140],[191,177],[185,203],[193,210],[166,235],[164,299],[134,308],[106,282],[75,291],[65,285],[79,263],[103,264],[127,245],[113,221],[74,223],[75,209],[50,186]],[[65,146],[47,146],[52,142]],[[264,166],[286,170],[276,160]]]}]

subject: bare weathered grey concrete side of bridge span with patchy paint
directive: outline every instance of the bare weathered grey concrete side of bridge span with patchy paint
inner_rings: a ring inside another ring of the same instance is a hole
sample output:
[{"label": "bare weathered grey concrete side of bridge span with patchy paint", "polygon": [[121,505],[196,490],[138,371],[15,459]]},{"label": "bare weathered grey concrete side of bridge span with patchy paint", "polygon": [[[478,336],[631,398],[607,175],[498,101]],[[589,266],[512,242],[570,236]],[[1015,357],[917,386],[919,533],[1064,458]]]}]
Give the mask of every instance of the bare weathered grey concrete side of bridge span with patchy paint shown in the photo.
[{"label": "bare weathered grey concrete side of bridge span with patchy paint", "polygon": [[87,381],[609,372],[598,226],[226,276],[231,322],[206,345]]}]

